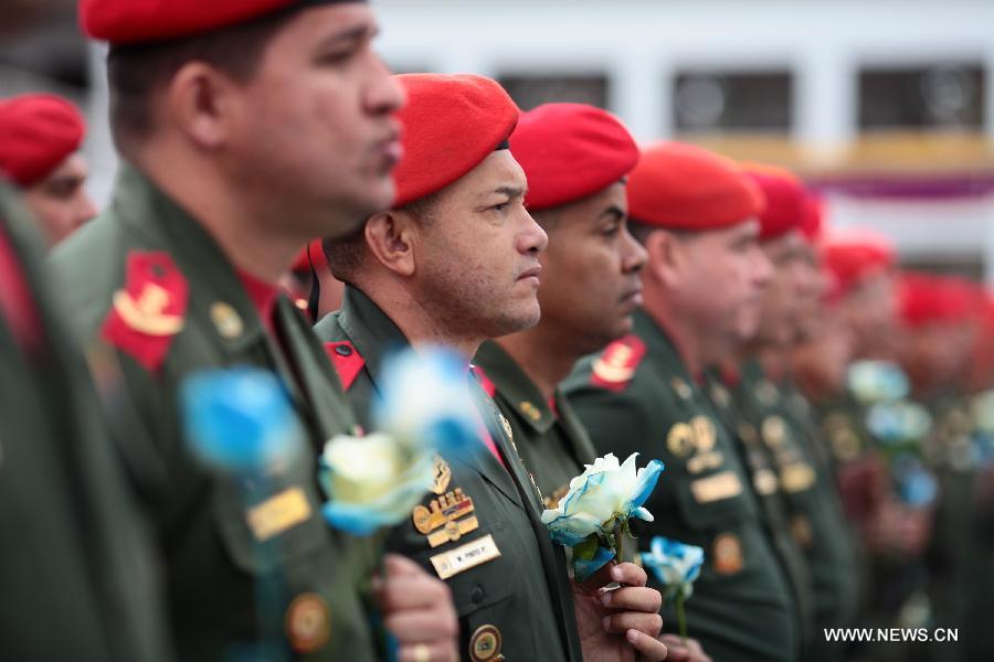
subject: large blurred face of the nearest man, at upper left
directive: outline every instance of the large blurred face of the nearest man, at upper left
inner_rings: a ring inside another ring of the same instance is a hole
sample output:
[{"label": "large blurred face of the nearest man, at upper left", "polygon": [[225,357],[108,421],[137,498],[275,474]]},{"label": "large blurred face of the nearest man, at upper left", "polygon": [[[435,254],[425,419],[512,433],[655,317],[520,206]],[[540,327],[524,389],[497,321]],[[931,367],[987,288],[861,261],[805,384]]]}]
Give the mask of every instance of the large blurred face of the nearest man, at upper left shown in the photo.
[{"label": "large blurred face of the nearest man, at upper left", "polygon": [[376,33],[364,4],[303,10],[236,97],[231,167],[286,200],[284,222],[295,206],[326,210],[311,236],[347,234],[393,200],[403,93],[371,47]]}]

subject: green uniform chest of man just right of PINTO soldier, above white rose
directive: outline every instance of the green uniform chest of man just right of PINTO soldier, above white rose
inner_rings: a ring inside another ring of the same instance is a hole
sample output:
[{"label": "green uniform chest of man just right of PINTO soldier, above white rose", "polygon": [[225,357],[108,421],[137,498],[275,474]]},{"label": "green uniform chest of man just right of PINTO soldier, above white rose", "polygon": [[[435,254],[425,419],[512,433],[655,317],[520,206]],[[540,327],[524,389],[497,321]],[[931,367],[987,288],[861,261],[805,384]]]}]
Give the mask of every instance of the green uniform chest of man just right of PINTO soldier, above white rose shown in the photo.
[{"label": "green uniform chest of man just right of PINTO soldier, above white rose", "polygon": [[551,402],[546,402],[521,366],[496,342],[485,342],[474,363],[487,392],[510,421],[518,453],[546,508],[556,508],[569,492],[570,481],[596,459],[586,430],[559,388]]}]

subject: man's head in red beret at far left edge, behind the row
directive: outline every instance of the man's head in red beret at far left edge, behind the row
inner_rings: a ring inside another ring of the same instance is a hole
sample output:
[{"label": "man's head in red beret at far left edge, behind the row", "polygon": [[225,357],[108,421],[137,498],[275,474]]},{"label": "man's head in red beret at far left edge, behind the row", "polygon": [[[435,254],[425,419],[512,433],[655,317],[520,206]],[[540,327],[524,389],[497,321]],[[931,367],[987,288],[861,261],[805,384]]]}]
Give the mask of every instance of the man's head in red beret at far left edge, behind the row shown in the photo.
[{"label": "man's head in red beret at far left edge, behind the row", "polygon": [[83,116],[60,97],[0,100],[0,170],[21,189],[49,246],[96,215],[83,188],[89,174],[78,152],[85,132]]}]

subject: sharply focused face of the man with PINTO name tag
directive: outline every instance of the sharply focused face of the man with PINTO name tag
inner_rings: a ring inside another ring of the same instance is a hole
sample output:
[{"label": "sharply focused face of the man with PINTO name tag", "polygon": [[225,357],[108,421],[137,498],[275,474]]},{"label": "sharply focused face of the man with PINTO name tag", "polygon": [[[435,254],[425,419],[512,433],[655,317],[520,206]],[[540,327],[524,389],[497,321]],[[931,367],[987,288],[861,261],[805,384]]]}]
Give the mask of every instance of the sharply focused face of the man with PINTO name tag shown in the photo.
[{"label": "sharply focused face of the man with PINTO name tag", "polygon": [[548,238],[525,210],[525,172],[495,151],[444,189],[420,227],[422,305],[461,338],[497,338],[538,323],[538,254]]}]

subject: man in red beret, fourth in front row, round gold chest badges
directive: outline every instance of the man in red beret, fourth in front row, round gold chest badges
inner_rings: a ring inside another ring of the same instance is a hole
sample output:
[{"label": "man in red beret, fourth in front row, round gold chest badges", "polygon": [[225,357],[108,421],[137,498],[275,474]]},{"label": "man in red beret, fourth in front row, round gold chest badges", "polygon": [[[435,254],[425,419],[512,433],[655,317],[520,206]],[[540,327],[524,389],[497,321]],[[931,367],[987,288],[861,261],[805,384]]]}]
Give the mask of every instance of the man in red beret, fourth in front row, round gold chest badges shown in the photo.
[{"label": "man in red beret, fourth in front row, round gold chest badges", "polygon": [[[666,463],[646,503],[665,535],[699,545],[705,565],[687,623],[716,660],[795,660],[787,578],[763,531],[731,434],[701,371],[755,331],[770,265],[758,246],[762,193],[733,163],[688,145],[643,151],[628,179],[632,234],[648,253],[634,331],[584,359],[565,382],[599,452]],[[664,610],[667,621],[674,616]]]}]

